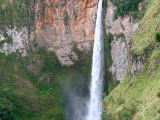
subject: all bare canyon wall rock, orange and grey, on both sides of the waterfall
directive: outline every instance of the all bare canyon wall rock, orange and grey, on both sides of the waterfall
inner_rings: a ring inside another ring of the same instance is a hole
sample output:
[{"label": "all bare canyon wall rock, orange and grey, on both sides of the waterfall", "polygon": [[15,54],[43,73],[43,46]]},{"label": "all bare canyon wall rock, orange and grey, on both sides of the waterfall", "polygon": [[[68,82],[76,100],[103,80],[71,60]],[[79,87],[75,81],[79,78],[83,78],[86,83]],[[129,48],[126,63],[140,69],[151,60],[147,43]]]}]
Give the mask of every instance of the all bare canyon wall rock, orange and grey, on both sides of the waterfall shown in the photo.
[{"label": "all bare canyon wall rock, orange and grey, on both sides of the waterfall", "polygon": [[[6,28],[6,33],[12,36],[13,42],[5,42],[0,47],[0,51],[9,54],[20,50],[22,55],[26,56],[29,43],[37,43],[38,46],[46,46],[48,50],[55,51],[63,65],[72,65],[74,63],[70,58],[77,59],[72,49],[75,45],[80,50],[92,49],[97,3],[98,0],[39,0],[30,4],[29,12],[35,11],[34,22],[29,21],[30,30],[28,27]],[[129,38],[138,28],[138,23],[133,23],[132,17],[127,15],[119,16],[114,20],[115,9],[113,3],[108,0],[105,29],[107,34],[110,32],[114,35],[114,40],[111,42],[113,63],[109,71],[112,72],[115,79],[123,80],[129,65],[129,58],[127,58],[127,51],[130,49]],[[117,37],[118,35],[120,37]],[[0,41],[5,39],[3,34],[0,36]]]}]

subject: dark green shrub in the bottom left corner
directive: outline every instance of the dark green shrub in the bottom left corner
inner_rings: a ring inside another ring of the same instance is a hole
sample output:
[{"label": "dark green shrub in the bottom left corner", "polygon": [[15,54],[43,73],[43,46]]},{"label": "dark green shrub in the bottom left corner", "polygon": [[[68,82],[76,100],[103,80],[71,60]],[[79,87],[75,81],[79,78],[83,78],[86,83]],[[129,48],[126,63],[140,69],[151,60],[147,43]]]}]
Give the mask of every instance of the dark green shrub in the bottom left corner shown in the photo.
[{"label": "dark green shrub in the bottom left corner", "polygon": [[0,118],[2,120],[14,120],[16,117],[29,117],[32,112],[27,110],[23,104],[24,97],[21,102],[17,100],[19,96],[14,91],[0,87]]}]

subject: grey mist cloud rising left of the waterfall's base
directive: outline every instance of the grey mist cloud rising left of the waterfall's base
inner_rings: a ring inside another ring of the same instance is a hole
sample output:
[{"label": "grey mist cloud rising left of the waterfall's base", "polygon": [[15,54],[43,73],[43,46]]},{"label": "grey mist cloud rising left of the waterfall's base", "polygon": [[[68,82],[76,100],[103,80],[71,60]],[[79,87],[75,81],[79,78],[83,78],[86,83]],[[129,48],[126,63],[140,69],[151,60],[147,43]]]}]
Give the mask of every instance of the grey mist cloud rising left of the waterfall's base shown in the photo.
[{"label": "grey mist cloud rising left of the waterfall's base", "polygon": [[65,120],[85,120],[89,100],[88,77],[78,73],[73,78],[74,83],[63,92]]}]

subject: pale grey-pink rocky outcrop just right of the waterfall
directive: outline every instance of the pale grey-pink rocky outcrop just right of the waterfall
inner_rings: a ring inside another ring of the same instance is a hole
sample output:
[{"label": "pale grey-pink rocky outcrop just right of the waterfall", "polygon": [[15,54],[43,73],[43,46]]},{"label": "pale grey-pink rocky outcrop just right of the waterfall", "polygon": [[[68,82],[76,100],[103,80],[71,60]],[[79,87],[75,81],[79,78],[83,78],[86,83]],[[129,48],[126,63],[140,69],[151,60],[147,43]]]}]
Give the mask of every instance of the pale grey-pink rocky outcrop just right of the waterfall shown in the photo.
[{"label": "pale grey-pink rocky outcrop just right of the waterfall", "polygon": [[[106,33],[112,33],[114,40],[111,42],[111,56],[113,63],[110,71],[115,75],[117,80],[123,80],[128,65],[127,51],[129,50],[129,37],[138,28],[137,23],[132,22],[132,17],[125,15],[113,19],[116,7],[108,0],[106,9],[105,28]],[[116,37],[121,36],[121,37]]]}]

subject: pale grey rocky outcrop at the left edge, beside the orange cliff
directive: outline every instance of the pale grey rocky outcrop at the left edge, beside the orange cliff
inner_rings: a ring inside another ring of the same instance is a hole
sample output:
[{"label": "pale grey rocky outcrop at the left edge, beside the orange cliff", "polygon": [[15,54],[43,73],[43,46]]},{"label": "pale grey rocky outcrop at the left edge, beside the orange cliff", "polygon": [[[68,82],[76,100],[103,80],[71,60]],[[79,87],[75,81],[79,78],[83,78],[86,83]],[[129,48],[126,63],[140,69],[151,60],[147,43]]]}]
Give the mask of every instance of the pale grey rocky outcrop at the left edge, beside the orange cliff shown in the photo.
[{"label": "pale grey rocky outcrop at the left edge, beside the orange cliff", "polygon": [[[16,52],[16,50],[19,50],[19,52],[22,53],[22,56],[26,56],[27,52],[26,49],[29,47],[29,39],[28,39],[28,30],[26,27],[21,27],[17,29],[15,26],[13,29],[11,28],[5,28],[6,33],[8,36],[12,38],[12,43],[5,42],[0,47],[0,52],[4,52],[6,55]],[[0,41],[5,40],[6,38],[3,36],[3,34],[0,34]]]}]

